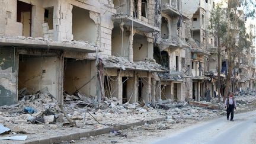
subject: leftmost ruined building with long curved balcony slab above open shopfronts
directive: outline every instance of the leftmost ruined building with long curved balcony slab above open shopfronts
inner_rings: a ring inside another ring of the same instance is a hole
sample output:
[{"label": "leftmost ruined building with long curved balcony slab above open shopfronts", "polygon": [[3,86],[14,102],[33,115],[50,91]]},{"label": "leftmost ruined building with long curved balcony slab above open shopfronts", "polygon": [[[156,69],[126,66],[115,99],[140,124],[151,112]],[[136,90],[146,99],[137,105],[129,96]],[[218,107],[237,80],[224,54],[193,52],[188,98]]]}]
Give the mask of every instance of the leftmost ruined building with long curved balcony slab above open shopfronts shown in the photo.
[{"label": "leftmost ruined building with long curved balcony slab above open shopfronts", "polygon": [[18,92],[24,89],[34,94],[45,87],[61,103],[63,90],[79,89],[97,97],[97,53],[111,54],[111,36],[105,36],[111,32],[113,14],[108,5],[108,1],[1,1],[0,105],[17,103]]}]

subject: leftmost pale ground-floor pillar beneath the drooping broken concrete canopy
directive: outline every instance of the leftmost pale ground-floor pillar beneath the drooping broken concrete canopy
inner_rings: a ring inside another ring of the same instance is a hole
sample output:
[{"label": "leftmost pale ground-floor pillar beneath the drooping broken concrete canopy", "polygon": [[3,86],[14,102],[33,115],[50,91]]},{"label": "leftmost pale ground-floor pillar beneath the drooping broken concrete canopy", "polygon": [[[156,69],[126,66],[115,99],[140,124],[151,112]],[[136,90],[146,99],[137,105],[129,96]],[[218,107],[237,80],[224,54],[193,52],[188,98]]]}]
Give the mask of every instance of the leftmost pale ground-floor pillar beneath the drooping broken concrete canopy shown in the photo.
[{"label": "leftmost pale ground-floor pillar beneath the drooping broken concrete canopy", "polygon": [[111,81],[111,95],[112,97],[116,97],[121,104],[123,102],[122,77],[114,76],[113,79],[116,79],[116,81]]}]

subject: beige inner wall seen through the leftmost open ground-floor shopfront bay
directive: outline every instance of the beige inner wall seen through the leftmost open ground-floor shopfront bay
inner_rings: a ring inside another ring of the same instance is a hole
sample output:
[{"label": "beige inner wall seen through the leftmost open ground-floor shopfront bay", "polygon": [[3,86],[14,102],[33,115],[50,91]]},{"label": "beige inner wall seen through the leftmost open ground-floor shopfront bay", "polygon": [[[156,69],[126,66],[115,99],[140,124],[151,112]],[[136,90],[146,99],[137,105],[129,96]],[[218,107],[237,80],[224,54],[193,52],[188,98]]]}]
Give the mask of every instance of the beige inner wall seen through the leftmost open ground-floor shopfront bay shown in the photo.
[{"label": "beige inner wall seen through the leftmost open ground-floor shopfront bay", "polygon": [[57,56],[20,55],[18,89],[27,88],[31,94],[44,87],[50,94],[57,97],[58,91],[58,66]]}]

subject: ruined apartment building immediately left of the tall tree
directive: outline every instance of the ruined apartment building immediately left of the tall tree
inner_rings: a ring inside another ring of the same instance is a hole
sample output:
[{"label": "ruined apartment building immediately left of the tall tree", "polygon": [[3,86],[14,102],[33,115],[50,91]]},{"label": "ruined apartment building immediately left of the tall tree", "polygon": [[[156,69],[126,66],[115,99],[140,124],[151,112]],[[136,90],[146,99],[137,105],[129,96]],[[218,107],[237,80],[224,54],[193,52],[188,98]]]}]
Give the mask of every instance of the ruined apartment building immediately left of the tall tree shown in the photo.
[{"label": "ruined apartment building immediately left of the tall tree", "polygon": [[192,76],[192,98],[200,101],[206,97],[206,92],[213,87],[209,72],[209,49],[216,49],[213,36],[209,34],[210,11],[213,9],[213,0],[186,1],[183,3],[183,11],[187,12],[191,19],[186,21],[186,38],[191,46],[191,76]]}]

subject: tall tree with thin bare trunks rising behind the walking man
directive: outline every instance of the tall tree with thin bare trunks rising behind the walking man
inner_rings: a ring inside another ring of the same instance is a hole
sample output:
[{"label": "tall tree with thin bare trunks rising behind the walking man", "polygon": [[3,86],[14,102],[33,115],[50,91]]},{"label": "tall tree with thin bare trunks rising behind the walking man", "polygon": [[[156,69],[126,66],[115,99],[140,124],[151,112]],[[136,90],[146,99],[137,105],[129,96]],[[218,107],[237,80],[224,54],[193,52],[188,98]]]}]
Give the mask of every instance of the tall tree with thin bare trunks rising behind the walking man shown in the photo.
[{"label": "tall tree with thin bare trunks rising behind the walking man", "polygon": [[251,46],[246,33],[245,19],[254,17],[255,10],[252,7],[256,7],[252,0],[226,0],[222,5],[217,5],[212,12],[210,28],[218,40],[218,92],[220,88],[220,46],[225,47],[228,56],[228,75],[223,101],[231,86],[236,57]]}]

